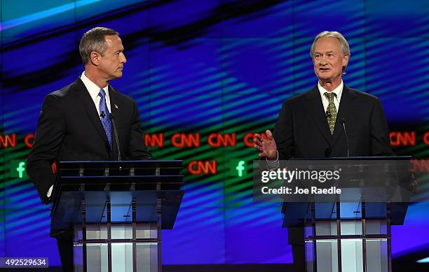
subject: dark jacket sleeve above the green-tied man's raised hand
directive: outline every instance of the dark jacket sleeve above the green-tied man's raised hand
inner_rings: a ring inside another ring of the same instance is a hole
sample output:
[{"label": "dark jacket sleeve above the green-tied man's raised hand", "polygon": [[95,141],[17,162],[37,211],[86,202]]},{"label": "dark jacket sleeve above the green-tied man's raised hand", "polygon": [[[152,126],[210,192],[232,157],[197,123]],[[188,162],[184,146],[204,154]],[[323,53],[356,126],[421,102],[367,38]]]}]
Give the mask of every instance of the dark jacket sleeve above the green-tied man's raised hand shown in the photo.
[{"label": "dark jacket sleeve above the green-tied man's raised hand", "polygon": [[287,101],[283,102],[282,110],[275,123],[273,137],[277,145],[278,158],[290,159],[293,154],[294,131],[293,131],[292,110]]}]

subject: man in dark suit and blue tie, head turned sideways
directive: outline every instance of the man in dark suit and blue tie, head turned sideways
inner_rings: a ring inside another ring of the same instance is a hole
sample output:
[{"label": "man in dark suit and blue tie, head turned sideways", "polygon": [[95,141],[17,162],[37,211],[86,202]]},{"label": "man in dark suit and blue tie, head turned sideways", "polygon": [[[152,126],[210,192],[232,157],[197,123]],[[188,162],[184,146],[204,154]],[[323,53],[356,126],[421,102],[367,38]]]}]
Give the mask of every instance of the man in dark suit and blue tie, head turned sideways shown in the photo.
[{"label": "man in dark suit and blue tie, head turned sideways", "polygon": [[[46,96],[27,158],[27,173],[43,203],[50,203],[53,194],[54,162],[151,158],[134,99],[109,85],[122,76],[127,61],[123,50],[118,32],[90,29],[79,45],[85,71],[74,83]],[[53,235],[64,271],[72,271],[71,232]]]}]

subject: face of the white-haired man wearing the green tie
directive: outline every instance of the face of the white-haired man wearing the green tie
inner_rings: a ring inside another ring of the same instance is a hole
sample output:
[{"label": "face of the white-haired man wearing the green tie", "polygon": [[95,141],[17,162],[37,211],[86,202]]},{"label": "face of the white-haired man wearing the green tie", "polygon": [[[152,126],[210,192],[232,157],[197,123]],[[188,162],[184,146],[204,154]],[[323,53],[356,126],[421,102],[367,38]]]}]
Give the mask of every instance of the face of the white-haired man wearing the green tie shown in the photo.
[{"label": "face of the white-haired man wearing the green tie", "polygon": [[318,39],[314,45],[314,73],[321,81],[341,80],[343,66],[348,63],[348,55],[341,53],[341,43],[334,37]]}]

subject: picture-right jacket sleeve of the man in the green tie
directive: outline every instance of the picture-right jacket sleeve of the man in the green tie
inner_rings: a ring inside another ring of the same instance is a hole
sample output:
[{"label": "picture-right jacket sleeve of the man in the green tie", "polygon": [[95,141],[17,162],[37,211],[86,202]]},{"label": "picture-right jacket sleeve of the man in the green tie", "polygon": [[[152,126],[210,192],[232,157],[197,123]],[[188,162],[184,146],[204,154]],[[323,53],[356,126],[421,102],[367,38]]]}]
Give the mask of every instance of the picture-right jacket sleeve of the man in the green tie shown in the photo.
[{"label": "picture-right jacket sleeve of the man in the green tie", "polygon": [[390,146],[388,123],[379,99],[376,99],[371,115],[371,155],[395,155]]}]

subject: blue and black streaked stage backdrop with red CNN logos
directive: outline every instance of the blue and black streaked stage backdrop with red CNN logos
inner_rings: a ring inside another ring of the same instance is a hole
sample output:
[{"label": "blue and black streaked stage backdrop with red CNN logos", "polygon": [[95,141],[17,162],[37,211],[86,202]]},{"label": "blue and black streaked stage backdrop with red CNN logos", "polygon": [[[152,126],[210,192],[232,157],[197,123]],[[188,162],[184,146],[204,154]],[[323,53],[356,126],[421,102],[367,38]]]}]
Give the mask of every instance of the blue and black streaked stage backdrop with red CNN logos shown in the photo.
[{"label": "blue and black streaked stage backdrop with red CNN logos", "polygon": [[[163,264],[292,262],[280,204],[252,201],[252,135],[316,85],[309,50],[320,31],[346,36],[345,84],[379,96],[395,152],[427,172],[428,3],[379,2],[1,0],[0,257],[60,264],[50,207],[22,169],[43,97],[81,74],[79,40],[97,26],[121,34],[128,62],[111,85],[137,101],[142,141],[156,159],[184,160]],[[419,189],[416,200],[429,199]],[[393,228],[395,258],[428,250],[428,208],[412,205]]]}]

